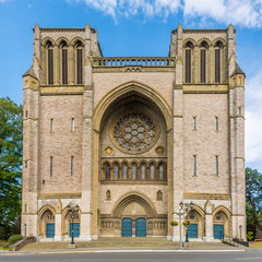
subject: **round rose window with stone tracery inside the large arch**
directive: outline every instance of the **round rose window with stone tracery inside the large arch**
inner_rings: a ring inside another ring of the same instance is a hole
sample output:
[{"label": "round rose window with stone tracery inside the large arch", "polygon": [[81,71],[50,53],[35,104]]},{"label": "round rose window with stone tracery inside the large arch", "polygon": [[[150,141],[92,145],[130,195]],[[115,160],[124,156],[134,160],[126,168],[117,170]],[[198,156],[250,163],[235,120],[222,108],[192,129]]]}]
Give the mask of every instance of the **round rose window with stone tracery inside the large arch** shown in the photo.
[{"label": "round rose window with stone tracery inside the large arch", "polygon": [[157,141],[158,124],[147,114],[129,112],[112,122],[111,140],[124,152],[135,154],[150,150]]}]

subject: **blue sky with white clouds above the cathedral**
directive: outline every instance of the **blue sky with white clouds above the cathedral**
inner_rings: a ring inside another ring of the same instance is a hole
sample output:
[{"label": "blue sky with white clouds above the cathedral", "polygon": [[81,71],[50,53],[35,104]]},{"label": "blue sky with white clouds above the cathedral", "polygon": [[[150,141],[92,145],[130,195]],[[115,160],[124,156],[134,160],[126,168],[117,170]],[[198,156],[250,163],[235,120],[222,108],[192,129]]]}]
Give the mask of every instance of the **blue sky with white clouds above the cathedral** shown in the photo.
[{"label": "blue sky with white clouds above the cathedral", "polygon": [[262,172],[262,0],[0,0],[0,97],[23,104],[33,27],[98,32],[105,57],[168,56],[171,31],[236,28],[246,73],[246,166]]}]

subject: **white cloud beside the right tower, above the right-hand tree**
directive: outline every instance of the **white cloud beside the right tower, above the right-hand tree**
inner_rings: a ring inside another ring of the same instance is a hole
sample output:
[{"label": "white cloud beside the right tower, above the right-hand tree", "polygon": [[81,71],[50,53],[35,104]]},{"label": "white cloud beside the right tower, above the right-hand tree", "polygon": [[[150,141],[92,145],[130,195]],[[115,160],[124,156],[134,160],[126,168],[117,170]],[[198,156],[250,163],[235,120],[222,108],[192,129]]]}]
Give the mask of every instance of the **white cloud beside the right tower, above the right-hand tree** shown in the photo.
[{"label": "white cloud beside the right tower, above the right-hand tree", "polygon": [[262,69],[246,83],[246,160],[262,170]]}]

